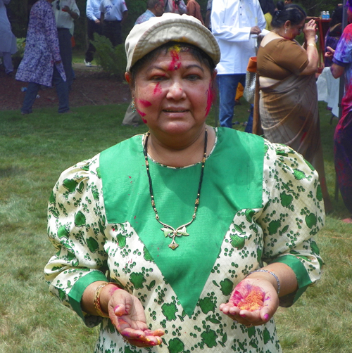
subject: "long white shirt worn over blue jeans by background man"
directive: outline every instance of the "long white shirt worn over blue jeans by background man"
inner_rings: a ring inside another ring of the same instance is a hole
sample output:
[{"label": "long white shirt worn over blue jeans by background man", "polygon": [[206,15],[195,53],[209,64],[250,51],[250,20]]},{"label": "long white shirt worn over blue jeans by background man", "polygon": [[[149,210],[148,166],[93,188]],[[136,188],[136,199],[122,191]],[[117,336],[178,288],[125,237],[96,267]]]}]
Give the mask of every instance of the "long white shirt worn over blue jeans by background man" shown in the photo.
[{"label": "long white shirt worn over blue jeans by background man", "polygon": [[218,41],[221,60],[218,75],[244,74],[248,60],[256,56],[256,37],[251,27],[265,29],[258,0],[217,0],[211,11],[211,30]]}]

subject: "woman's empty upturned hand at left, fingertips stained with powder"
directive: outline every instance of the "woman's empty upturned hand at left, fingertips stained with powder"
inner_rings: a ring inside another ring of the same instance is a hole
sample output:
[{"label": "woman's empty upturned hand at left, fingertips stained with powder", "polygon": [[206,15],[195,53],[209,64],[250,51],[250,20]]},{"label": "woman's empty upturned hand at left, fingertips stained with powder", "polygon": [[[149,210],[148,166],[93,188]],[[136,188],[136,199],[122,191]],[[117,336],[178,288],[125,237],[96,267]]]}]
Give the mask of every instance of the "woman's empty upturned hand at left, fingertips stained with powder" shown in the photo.
[{"label": "woman's empty upturned hand at left, fingertips stained with powder", "polygon": [[137,297],[125,290],[115,290],[108,301],[108,314],[120,335],[137,347],[161,345],[162,329],[151,331],[146,325],[146,315]]}]

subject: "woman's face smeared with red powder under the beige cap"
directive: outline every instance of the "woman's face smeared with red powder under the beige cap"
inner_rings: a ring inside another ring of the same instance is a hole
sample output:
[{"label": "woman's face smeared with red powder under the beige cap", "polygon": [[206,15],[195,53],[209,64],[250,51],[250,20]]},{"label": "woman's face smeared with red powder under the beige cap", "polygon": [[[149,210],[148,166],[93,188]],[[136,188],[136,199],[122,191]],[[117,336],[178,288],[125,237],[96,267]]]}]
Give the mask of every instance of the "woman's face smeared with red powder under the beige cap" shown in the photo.
[{"label": "woman's face smeared with red powder under the beige cap", "polygon": [[144,65],[137,72],[133,94],[151,133],[171,136],[203,128],[214,98],[213,76],[177,46]]}]

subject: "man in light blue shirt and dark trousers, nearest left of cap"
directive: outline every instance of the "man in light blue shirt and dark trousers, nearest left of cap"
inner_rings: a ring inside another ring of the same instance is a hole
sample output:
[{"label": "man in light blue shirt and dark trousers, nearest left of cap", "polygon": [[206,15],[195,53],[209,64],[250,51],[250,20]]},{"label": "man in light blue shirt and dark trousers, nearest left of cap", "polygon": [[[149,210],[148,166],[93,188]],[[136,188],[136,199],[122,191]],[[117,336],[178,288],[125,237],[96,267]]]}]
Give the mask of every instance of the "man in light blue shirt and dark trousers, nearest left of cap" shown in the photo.
[{"label": "man in light blue shirt and dark trousers, nearest left of cap", "polygon": [[128,14],[125,1],[101,0],[100,11],[103,35],[110,39],[113,46],[122,44],[122,24]]}]

